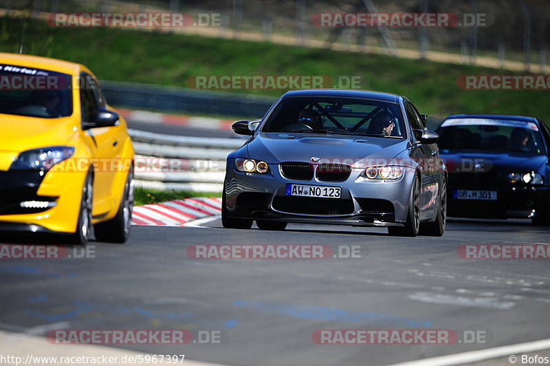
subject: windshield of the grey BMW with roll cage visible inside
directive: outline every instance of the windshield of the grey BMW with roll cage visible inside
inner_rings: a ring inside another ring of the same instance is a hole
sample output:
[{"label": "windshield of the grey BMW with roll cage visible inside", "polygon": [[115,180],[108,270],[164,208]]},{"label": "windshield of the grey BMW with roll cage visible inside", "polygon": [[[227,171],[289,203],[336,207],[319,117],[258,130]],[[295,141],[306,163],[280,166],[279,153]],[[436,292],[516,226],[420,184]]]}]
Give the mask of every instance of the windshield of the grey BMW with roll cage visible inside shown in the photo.
[{"label": "windshield of the grey BMW with roll cage visible inside", "polygon": [[360,98],[295,96],[283,98],[263,132],[305,132],[402,138],[397,103]]}]

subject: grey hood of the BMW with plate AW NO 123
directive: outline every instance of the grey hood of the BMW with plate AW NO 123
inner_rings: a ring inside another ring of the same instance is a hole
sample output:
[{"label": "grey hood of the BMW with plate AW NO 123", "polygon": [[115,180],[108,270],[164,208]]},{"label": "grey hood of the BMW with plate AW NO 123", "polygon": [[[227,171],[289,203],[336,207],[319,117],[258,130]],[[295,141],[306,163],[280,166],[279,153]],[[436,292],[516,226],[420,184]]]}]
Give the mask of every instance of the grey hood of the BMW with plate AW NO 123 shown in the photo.
[{"label": "grey hood of the BMW with plate AW NO 123", "polygon": [[267,163],[339,162],[353,165],[365,159],[389,162],[407,148],[406,140],[366,136],[325,135],[318,133],[259,133],[247,144],[252,159]]}]

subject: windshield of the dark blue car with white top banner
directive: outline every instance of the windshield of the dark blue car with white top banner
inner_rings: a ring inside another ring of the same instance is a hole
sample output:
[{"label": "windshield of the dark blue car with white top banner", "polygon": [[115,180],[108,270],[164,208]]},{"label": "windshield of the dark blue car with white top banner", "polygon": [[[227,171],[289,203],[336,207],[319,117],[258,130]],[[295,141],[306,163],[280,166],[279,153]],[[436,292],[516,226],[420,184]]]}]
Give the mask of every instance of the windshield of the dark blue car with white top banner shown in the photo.
[{"label": "windshield of the dark blue car with white top banner", "polygon": [[543,155],[546,149],[534,122],[452,118],[439,127],[441,150],[513,151]]}]

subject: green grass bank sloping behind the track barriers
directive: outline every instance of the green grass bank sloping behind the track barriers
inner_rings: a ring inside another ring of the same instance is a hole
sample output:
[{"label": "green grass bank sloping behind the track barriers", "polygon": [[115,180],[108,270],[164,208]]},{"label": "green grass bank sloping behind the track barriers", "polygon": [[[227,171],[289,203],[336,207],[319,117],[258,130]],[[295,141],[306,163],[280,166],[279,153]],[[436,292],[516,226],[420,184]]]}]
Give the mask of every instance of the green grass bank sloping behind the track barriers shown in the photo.
[{"label": "green grass bank sloping behind the track barriers", "polygon": [[[488,67],[157,31],[50,28],[29,19],[3,17],[0,22],[0,51],[19,50],[24,26],[24,53],[84,63],[102,80],[186,87],[186,80],[197,75],[360,76],[362,89],[402,94],[423,113],[523,114],[550,120],[547,92],[456,86],[463,75],[514,74]],[[285,91],[241,92],[279,96]]]}]

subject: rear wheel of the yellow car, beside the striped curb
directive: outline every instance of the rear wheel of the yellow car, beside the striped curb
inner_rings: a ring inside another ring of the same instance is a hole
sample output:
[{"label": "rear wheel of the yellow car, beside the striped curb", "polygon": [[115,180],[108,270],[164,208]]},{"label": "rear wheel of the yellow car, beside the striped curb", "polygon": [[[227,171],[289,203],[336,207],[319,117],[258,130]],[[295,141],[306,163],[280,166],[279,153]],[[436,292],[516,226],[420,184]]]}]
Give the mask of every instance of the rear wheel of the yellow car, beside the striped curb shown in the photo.
[{"label": "rear wheel of the yellow car, beside the striped curb", "polygon": [[124,184],[124,194],[115,217],[106,222],[94,225],[94,234],[97,241],[109,243],[125,243],[130,235],[132,211],[134,201],[133,166],[128,172]]}]

